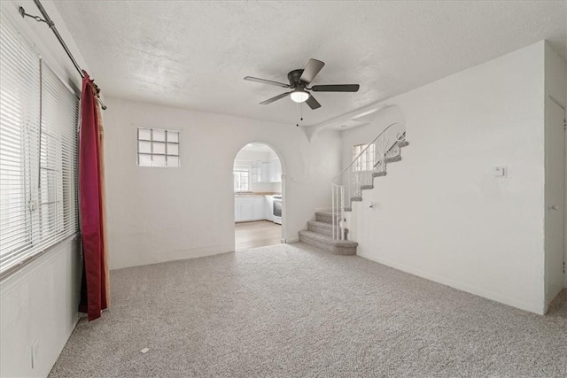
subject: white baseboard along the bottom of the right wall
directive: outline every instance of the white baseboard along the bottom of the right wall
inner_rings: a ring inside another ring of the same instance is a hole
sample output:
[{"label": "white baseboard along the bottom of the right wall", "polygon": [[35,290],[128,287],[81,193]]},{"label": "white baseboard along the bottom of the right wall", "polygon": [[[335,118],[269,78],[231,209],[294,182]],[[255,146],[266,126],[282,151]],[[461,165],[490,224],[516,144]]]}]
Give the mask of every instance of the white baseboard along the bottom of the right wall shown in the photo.
[{"label": "white baseboard along the bottom of the right wall", "polygon": [[462,291],[466,291],[470,294],[474,294],[478,297],[485,297],[486,299],[490,299],[493,300],[495,302],[499,302],[501,304],[504,305],[509,305],[512,307],[516,307],[519,308],[520,310],[524,310],[527,312],[534,312],[537,313],[538,315],[544,315],[546,312],[548,312],[548,305],[543,305],[543,306],[537,306],[537,305],[531,305],[525,302],[521,302],[521,301],[517,301],[516,299],[510,298],[510,297],[504,297],[501,296],[500,294],[494,293],[492,291],[486,291],[485,289],[478,289],[474,286],[470,286],[467,285],[466,283],[462,283],[462,282],[456,282],[454,280],[448,279],[447,277],[443,277],[440,276],[438,274],[431,274],[429,272],[424,272],[422,270],[410,267],[410,266],[406,266],[404,264],[400,264],[398,262],[386,259],[386,258],[376,258],[374,256],[369,256],[363,253],[358,253],[358,256],[360,256],[361,258],[367,258],[369,260],[372,261],[376,261],[379,264],[383,264],[384,266],[390,266],[394,269],[398,269],[402,272],[406,272],[409,274],[414,274],[418,277],[424,278],[426,280],[430,280],[432,282],[438,282],[441,283],[443,285],[447,285],[450,286],[451,288],[454,289],[459,289]]}]

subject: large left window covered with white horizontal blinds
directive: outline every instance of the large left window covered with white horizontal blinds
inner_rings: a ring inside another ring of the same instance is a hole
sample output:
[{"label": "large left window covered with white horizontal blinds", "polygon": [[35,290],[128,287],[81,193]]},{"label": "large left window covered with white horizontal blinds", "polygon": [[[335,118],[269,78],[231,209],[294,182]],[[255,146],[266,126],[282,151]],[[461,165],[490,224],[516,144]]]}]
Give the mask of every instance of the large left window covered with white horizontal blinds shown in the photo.
[{"label": "large left window covered with white horizontal blinds", "polygon": [[77,96],[1,15],[0,276],[78,231]]}]

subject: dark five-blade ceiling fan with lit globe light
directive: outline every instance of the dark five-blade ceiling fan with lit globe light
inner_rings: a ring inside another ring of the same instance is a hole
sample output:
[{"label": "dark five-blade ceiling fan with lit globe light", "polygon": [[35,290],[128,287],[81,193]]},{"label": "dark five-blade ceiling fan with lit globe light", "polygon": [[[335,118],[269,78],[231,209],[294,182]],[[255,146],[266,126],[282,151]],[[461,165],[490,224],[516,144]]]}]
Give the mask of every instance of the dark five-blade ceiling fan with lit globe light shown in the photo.
[{"label": "dark five-blade ceiling fan with lit globe light", "polygon": [[321,104],[315,97],[308,92],[308,90],[313,90],[314,92],[356,92],[359,89],[358,84],[333,84],[333,85],[314,85],[313,87],[307,87],[311,81],[315,78],[317,73],[321,71],[322,66],[325,64],[317,59],[309,59],[307,66],[302,70],[293,70],[287,74],[287,79],[290,81],[289,84],[283,82],[271,81],[266,79],[259,79],[257,77],[246,76],[247,81],[256,81],[262,84],[276,85],[282,88],[292,89],[290,92],[282,93],[272,98],[268,98],[266,101],[262,101],[260,105],[271,104],[274,101],[279,100],[287,95],[290,95],[291,100],[296,103],[307,103],[311,109],[317,109],[321,107]]}]

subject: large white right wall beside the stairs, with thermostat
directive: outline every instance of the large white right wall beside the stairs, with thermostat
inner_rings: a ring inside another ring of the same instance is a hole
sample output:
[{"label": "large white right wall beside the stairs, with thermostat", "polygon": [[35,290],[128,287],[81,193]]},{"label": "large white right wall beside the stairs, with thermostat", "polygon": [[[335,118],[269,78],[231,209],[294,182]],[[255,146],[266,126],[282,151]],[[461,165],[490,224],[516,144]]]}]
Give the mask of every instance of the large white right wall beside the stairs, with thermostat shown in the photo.
[{"label": "large white right wall beside the stairs, with thermostat", "polygon": [[[349,236],[359,255],[544,311],[543,47],[384,102],[405,112],[410,145],[353,204]],[[343,132],[343,150],[384,126]],[[508,177],[493,177],[494,166],[508,166]]]}]

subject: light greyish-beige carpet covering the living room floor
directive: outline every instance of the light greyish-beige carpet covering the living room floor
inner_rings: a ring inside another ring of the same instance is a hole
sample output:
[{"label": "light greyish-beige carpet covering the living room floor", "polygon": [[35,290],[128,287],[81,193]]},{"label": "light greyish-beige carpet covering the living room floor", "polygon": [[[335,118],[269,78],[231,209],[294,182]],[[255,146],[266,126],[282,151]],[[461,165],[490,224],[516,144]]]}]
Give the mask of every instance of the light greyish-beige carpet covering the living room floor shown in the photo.
[{"label": "light greyish-beige carpet covering the living room floor", "polygon": [[51,377],[567,376],[566,290],[539,316],[302,243],[111,279]]}]

